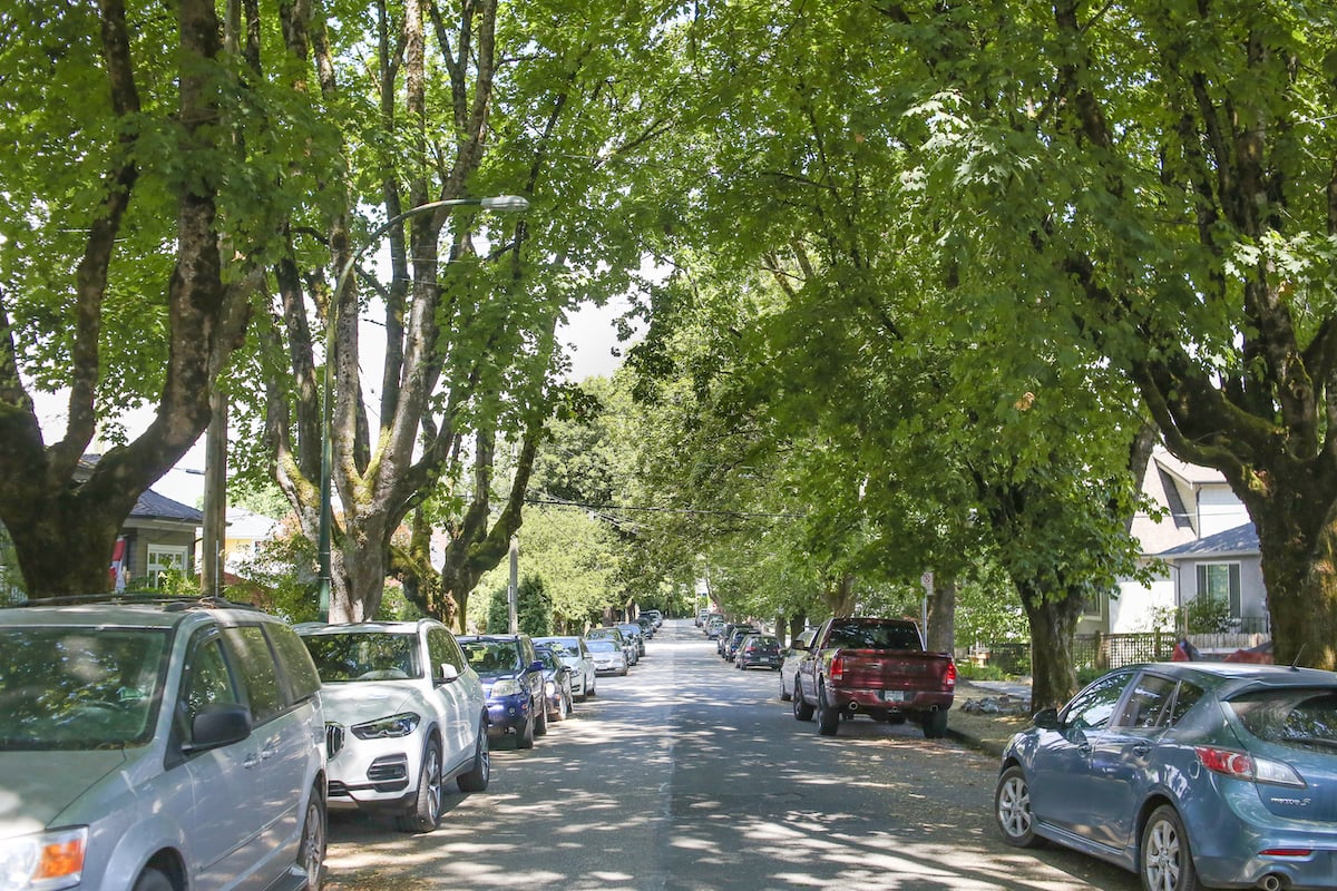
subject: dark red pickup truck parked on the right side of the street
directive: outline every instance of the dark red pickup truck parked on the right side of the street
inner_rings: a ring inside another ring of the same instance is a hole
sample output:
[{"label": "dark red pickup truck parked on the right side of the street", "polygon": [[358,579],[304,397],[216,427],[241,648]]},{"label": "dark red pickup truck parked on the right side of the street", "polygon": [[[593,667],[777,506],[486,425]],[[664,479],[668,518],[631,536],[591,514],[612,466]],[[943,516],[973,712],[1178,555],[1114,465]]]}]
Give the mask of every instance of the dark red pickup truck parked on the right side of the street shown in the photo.
[{"label": "dark red pickup truck parked on the right side of the street", "polygon": [[794,675],[794,717],[817,716],[826,736],[842,716],[868,715],[900,723],[906,717],[924,736],[947,733],[947,711],[956,693],[951,653],[924,652],[919,625],[905,618],[829,618]]}]

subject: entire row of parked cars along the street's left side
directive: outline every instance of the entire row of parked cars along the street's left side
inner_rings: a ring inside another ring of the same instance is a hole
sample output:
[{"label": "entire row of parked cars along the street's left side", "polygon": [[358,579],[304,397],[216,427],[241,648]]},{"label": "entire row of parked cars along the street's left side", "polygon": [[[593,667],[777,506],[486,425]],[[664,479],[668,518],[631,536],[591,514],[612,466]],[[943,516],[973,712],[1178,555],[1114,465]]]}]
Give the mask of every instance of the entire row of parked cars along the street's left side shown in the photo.
[{"label": "entire row of parked cars along the street's left side", "polygon": [[328,810],[436,828],[448,783],[488,787],[491,737],[533,745],[626,673],[643,618],[531,640],[210,600],[3,609],[0,888],[318,888]]}]

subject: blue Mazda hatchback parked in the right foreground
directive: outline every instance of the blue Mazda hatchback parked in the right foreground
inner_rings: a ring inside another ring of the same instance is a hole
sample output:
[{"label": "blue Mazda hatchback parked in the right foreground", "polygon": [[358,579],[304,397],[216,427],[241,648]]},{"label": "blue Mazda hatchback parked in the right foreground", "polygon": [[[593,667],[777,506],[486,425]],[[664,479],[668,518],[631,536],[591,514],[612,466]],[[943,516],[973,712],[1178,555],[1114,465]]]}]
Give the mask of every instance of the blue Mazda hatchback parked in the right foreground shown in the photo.
[{"label": "blue Mazda hatchback parked in the right foreground", "polygon": [[1130,665],[1003,752],[993,814],[1138,872],[1148,891],[1337,887],[1337,675]]}]

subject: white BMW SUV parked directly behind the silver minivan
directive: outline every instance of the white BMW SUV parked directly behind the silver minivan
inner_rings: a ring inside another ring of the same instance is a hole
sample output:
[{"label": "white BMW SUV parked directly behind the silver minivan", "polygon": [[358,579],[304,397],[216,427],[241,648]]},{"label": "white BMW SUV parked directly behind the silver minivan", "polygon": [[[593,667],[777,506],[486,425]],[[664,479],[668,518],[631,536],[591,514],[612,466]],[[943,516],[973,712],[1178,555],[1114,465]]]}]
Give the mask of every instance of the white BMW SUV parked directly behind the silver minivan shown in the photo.
[{"label": "white BMW SUV parked directly behind the silver minivan", "polygon": [[297,632],[330,721],[330,808],[389,814],[405,832],[431,832],[441,824],[444,783],[488,787],[483,683],[445,625],[309,622]]}]

